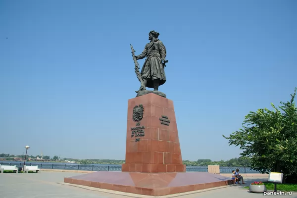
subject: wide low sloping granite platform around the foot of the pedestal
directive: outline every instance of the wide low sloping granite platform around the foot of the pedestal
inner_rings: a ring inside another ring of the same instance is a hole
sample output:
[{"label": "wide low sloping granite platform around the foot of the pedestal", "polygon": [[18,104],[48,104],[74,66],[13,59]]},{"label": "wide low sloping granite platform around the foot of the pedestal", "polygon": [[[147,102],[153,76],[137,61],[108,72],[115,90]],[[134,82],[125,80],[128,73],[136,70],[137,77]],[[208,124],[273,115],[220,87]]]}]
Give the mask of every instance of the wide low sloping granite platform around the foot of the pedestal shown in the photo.
[{"label": "wide low sloping granite platform around the foot of the pedestal", "polygon": [[64,178],[64,182],[148,196],[165,196],[232,184],[231,178],[207,172],[132,173],[99,171]]}]

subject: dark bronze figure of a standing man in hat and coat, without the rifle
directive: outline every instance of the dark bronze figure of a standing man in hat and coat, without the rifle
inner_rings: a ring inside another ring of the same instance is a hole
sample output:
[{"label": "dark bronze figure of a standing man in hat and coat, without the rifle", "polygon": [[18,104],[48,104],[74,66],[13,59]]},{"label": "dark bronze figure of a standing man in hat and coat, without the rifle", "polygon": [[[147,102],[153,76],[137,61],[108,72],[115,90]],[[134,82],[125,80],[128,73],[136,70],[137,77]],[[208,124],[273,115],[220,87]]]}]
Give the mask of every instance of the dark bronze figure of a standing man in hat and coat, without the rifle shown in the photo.
[{"label": "dark bronze figure of a standing man in hat and coat, without the rifle", "polygon": [[[142,67],[141,75],[144,79],[145,87],[153,88],[153,91],[158,91],[159,86],[166,82],[164,71],[166,48],[158,39],[159,35],[158,32],[150,31],[148,34],[150,42],[140,55],[135,56],[137,60],[147,57]],[[136,91],[136,93],[139,91]]]}]

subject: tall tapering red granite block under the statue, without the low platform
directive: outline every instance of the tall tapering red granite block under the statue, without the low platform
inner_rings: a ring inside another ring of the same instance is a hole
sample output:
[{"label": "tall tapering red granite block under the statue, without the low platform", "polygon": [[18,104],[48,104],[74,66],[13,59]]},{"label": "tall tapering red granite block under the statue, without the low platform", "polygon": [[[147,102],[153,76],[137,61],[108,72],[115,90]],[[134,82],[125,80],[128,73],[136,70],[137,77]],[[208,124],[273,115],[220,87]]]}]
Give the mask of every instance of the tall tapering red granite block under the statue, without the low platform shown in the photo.
[{"label": "tall tapering red granite block under the statue, without the low platform", "polygon": [[[143,117],[133,120],[133,109]],[[136,139],[139,141],[136,142]],[[173,101],[148,94],[128,101],[126,161],[123,172],[186,172],[178,137]]]}]

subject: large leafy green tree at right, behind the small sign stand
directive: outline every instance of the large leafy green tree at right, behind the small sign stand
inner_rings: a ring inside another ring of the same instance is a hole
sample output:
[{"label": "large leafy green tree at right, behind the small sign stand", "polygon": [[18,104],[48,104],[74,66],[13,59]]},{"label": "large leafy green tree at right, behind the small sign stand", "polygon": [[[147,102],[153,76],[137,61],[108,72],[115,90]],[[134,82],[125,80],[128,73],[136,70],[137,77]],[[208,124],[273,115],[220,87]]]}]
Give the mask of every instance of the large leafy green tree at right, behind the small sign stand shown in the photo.
[{"label": "large leafy green tree at right, behind the small sign stand", "polygon": [[267,108],[250,112],[245,117],[243,129],[233,132],[229,145],[240,146],[244,157],[260,173],[283,172],[284,183],[297,183],[297,107],[291,100],[281,102],[279,108],[271,103]]}]

